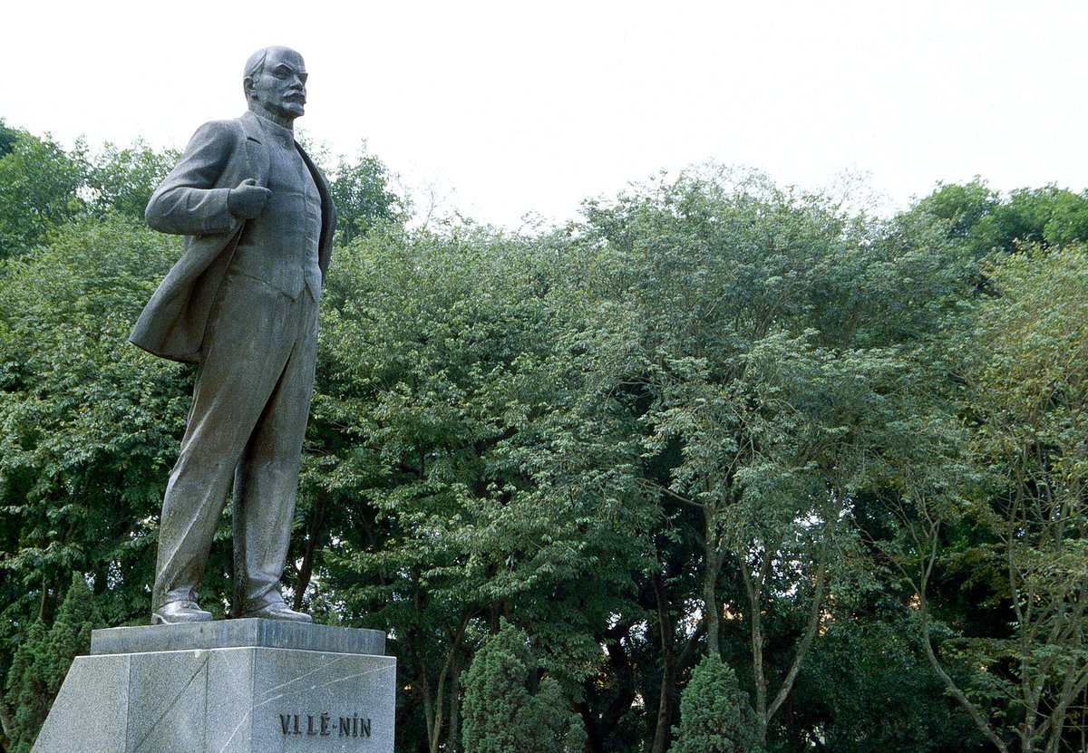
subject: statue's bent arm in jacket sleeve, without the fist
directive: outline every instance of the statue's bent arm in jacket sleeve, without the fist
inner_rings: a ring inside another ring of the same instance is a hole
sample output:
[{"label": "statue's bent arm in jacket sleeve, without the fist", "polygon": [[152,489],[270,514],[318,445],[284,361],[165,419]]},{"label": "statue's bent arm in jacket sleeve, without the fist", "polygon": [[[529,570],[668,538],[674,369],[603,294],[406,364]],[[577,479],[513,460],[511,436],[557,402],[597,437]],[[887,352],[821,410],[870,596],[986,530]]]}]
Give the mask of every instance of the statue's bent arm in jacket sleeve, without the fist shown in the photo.
[{"label": "statue's bent arm in jacket sleeve, without the fist", "polygon": [[189,139],[185,153],[151,195],[144,219],[162,233],[214,235],[237,224],[227,207],[230,186],[219,184],[239,144],[231,121],[205,123]]}]

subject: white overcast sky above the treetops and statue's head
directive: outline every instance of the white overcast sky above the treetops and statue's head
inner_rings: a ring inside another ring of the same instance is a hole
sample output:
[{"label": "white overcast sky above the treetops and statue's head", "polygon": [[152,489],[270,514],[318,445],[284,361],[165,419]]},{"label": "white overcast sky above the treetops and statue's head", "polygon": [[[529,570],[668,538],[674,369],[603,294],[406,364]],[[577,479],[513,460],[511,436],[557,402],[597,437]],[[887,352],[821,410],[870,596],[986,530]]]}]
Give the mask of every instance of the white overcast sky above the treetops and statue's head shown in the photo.
[{"label": "white overcast sky above the treetops and statue's head", "polygon": [[480,221],[566,220],[714,160],[898,207],[938,181],[1088,187],[1085,0],[9,0],[0,118],[65,146],[182,148],[287,45],[313,140]]}]

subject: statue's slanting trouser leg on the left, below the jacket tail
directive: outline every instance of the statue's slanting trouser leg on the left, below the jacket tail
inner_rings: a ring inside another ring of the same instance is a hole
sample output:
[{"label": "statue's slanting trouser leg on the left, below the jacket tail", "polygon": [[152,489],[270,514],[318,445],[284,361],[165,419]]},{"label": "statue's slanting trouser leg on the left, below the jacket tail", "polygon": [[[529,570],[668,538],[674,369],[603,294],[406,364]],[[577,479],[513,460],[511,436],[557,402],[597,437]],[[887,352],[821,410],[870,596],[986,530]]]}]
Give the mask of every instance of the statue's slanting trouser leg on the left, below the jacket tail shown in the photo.
[{"label": "statue's slanting trouser leg on the left, below the jacket tail", "polygon": [[[263,289],[255,295],[257,286]],[[238,459],[290,353],[290,343],[273,336],[282,331],[283,297],[248,277],[225,279],[162,502],[152,609],[195,598]]]}]

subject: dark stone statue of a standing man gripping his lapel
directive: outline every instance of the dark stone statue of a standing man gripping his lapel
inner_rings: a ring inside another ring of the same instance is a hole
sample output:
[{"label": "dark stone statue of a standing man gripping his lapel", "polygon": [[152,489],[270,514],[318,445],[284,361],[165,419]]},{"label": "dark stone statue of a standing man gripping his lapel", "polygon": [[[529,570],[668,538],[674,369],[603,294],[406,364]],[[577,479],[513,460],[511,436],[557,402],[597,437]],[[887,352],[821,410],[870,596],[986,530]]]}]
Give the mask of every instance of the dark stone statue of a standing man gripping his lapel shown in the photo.
[{"label": "dark stone statue of a standing man gripping his lapel", "polygon": [[185,250],[129,340],[199,365],[162,502],[156,624],[211,619],[197,590],[232,482],[234,616],[310,621],[280,593],[335,224],[329,185],[294,138],[306,78],[294,50],[254,53],[249,111],[200,126],[145,213]]}]

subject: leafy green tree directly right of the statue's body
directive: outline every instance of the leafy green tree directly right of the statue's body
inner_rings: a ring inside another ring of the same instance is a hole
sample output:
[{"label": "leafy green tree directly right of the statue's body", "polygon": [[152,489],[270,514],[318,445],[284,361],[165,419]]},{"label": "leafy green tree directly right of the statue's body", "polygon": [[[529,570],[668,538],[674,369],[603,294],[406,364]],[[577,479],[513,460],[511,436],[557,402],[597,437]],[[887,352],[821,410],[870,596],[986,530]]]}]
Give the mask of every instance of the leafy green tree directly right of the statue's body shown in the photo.
[{"label": "leafy green tree directly right of the statue's body", "polygon": [[384,227],[327,281],[300,505],[327,538],[310,582],[343,618],[395,627],[412,678],[401,739],[418,724],[432,750],[459,743],[473,635],[517,612],[548,669],[584,679],[629,589],[638,490],[605,458],[638,454],[579,397],[585,344],[567,322],[584,313],[562,243]]}]

